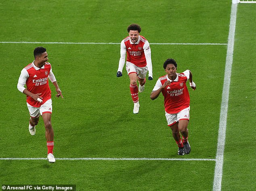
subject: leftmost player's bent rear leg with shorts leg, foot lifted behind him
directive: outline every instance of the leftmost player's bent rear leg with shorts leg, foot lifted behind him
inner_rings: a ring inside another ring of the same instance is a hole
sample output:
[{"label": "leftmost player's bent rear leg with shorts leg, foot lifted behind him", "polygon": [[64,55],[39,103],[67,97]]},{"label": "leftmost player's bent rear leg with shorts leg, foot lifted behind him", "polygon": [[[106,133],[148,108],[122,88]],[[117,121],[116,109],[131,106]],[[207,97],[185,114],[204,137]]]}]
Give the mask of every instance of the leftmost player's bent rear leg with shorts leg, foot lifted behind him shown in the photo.
[{"label": "leftmost player's bent rear leg with shorts leg, foot lifted behind him", "polygon": [[27,108],[29,110],[29,133],[30,135],[36,135],[36,125],[38,124],[39,117],[40,117],[40,111],[39,108],[33,107],[27,103]]}]

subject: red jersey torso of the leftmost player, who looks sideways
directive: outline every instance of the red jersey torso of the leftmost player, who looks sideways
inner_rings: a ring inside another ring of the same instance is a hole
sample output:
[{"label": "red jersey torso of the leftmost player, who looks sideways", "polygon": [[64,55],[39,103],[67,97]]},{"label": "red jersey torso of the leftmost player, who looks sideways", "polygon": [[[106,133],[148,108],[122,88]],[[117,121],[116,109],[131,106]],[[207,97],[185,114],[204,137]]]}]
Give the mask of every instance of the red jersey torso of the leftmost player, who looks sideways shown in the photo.
[{"label": "red jersey torso of the leftmost player, who looks sideways", "polygon": [[25,67],[29,77],[26,81],[27,90],[31,93],[42,93],[40,96],[43,98],[43,102],[37,102],[33,98],[27,96],[27,103],[33,107],[40,107],[47,100],[51,98],[51,90],[48,83],[48,75],[51,70],[51,65],[49,62],[46,62],[44,68],[36,70],[33,64],[29,64]]}]

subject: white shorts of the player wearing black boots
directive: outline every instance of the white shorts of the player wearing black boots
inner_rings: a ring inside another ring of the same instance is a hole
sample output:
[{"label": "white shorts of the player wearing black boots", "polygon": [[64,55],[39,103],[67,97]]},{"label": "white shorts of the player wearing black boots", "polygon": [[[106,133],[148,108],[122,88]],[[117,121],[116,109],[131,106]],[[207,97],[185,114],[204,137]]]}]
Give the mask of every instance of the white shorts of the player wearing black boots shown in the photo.
[{"label": "white shorts of the player wearing black boots", "polygon": [[189,110],[190,110],[190,106],[174,114],[165,112],[168,126],[174,125],[179,120],[189,120]]}]

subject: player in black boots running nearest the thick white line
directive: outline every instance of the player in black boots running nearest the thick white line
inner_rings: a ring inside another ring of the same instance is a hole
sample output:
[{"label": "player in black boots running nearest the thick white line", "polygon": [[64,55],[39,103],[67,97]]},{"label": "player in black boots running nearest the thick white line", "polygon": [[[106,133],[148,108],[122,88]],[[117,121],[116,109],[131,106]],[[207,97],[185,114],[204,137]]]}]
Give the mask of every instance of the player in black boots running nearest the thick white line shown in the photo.
[{"label": "player in black boots running nearest the thick white line", "polygon": [[[190,98],[186,82],[189,80],[190,87],[195,90],[195,83],[192,80],[192,73],[189,70],[183,73],[176,73],[177,63],[169,58],[164,62],[166,75],[159,77],[153,91],[150,94],[151,100],[155,100],[162,92],[164,96],[165,116],[168,126],[172,129],[172,136],[178,145],[178,155],[189,154],[189,110]],[[182,141],[180,139],[182,135]]]}]

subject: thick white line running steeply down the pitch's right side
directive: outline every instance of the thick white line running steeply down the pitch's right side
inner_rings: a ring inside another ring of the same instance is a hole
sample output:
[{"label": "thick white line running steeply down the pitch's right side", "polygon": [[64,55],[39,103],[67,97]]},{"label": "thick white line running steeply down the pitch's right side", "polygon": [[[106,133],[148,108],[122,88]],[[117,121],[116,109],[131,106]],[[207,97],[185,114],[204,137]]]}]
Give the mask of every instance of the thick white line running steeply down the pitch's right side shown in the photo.
[{"label": "thick white line running steeply down the pitch's right side", "polygon": [[232,70],[232,63],[233,63],[235,23],[236,23],[236,17],[237,17],[236,15],[237,15],[237,4],[232,4],[230,24],[229,24],[229,39],[228,39],[228,46],[227,46],[224,84],[223,84],[222,101],[221,101],[221,107],[220,107],[218,145],[217,145],[217,152],[216,152],[216,164],[215,164],[215,170],[214,170],[214,183],[213,183],[214,191],[221,190],[222,168],[223,168],[226,127],[227,127],[227,112],[228,112],[228,105],[229,105],[229,86],[230,86],[231,70]]}]

